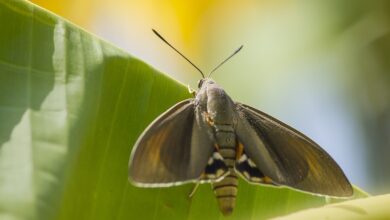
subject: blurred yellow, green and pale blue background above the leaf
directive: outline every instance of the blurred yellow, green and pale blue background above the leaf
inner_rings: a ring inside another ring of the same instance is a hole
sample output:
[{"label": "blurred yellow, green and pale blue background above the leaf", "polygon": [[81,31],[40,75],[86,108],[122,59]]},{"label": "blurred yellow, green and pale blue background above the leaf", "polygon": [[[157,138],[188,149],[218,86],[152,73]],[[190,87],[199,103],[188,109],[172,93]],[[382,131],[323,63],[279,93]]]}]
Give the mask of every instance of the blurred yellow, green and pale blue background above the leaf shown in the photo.
[{"label": "blurred yellow, green and pale blue background above the leaf", "polygon": [[307,134],[369,193],[390,191],[390,1],[33,0],[196,88],[200,74],[233,99]]}]

